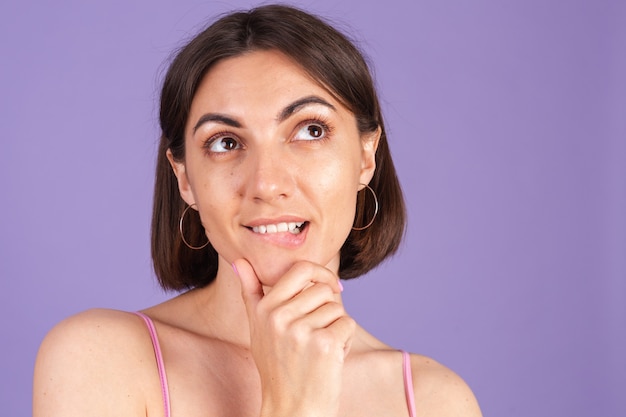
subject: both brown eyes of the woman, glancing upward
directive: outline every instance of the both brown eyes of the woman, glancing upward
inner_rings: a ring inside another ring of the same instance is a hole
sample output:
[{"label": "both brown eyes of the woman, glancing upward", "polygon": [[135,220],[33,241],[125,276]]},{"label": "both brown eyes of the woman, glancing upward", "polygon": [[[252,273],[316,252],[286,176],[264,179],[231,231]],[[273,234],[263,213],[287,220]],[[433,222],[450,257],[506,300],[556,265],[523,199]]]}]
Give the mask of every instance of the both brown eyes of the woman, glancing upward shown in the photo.
[{"label": "both brown eyes of the woman, glancing upward", "polygon": [[[329,140],[332,133],[332,125],[324,117],[317,116],[298,123],[290,135],[290,142],[322,143]],[[224,156],[244,147],[244,141],[228,130],[214,133],[203,144],[208,154],[216,156]]]}]

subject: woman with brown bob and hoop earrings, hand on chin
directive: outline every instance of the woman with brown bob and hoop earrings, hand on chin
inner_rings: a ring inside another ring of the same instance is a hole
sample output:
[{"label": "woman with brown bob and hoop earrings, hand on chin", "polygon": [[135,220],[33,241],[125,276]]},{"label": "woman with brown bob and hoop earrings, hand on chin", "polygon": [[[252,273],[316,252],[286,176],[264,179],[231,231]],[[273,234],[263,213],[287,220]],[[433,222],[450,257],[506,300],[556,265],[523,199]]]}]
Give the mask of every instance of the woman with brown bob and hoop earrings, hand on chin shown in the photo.
[{"label": "woman with brown bob and hoop earrings, hand on chin", "polygon": [[172,62],[160,116],[153,260],[187,291],[55,327],[35,416],[480,415],[453,372],[342,306],[339,277],[404,231],[373,83],[343,35],[286,6],[227,15]]}]

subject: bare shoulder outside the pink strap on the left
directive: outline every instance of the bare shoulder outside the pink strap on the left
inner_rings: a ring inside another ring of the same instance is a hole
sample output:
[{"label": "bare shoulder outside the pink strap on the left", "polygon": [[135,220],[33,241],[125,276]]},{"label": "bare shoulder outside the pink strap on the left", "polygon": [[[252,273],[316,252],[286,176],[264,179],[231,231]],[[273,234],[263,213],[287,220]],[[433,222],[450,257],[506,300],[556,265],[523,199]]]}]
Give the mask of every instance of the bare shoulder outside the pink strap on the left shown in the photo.
[{"label": "bare shoulder outside the pink strap on the left", "polygon": [[149,336],[132,313],[89,310],[63,320],[39,348],[33,415],[145,416],[150,359]]}]

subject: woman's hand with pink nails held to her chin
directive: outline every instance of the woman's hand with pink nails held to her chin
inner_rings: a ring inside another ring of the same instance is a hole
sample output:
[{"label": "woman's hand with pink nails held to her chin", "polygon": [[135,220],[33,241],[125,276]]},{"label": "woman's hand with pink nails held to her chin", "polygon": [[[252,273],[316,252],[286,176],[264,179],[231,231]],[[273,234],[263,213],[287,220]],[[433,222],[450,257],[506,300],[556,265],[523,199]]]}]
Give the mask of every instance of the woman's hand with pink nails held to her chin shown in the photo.
[{"label": "woman's hand with pink nails held to her chin", "polygon": [[250,349],[261,377],[262,416],[334,416],[355,322],[336,294],[337,276],[300,261],[267,294],[252,266],[233,264],[250,322]]}]

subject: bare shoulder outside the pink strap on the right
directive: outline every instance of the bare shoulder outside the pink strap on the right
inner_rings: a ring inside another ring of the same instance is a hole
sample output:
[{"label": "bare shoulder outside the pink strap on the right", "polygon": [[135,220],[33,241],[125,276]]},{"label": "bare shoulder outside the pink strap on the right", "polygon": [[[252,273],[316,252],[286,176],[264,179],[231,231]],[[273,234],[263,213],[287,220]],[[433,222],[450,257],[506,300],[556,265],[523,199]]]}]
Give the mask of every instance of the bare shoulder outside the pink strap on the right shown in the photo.
[{"label": "bare shoulder outside the pink strap on the right", "polygon": [[449,368],[422,355],[411,355],[417,415],[482,416],[476,397]]}]

